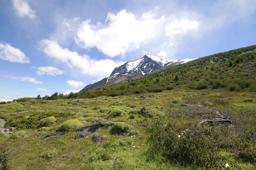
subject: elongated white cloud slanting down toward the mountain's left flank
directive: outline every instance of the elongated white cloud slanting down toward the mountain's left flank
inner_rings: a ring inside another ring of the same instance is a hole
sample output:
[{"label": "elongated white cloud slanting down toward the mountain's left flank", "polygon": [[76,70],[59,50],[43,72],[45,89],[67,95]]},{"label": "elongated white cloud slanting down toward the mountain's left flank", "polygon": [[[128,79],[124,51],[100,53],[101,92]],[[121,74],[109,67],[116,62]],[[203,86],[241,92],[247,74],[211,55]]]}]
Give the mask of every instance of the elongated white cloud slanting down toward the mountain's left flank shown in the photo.
[{"label": "elongated white cloud slanting down toward the mountain's left flank", "polygon": [[41,40],[40,49],[49,57],[67,64],[73,70],[76,69],[81,74],[90,77],[97,77],[99,80],[108,77],[113,69],[124,62],[113,60],[92,60],[88,55],[79,55],[69,49],[61,48],[59,44],[52,40]]}]

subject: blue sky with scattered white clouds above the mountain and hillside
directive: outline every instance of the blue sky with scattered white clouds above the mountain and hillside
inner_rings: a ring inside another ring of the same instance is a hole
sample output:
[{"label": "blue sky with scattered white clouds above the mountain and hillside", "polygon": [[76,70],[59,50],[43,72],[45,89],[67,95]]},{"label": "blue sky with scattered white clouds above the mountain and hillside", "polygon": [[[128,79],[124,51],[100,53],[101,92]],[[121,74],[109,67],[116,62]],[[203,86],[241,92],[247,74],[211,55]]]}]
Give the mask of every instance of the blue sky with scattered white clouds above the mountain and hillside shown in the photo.
[{"label": "blue sky with scattered white clouds above the mountain and hillside", "polygon": [[0,0],[0,101],[78,92],[144,54],[256,44],[254,0]]}]

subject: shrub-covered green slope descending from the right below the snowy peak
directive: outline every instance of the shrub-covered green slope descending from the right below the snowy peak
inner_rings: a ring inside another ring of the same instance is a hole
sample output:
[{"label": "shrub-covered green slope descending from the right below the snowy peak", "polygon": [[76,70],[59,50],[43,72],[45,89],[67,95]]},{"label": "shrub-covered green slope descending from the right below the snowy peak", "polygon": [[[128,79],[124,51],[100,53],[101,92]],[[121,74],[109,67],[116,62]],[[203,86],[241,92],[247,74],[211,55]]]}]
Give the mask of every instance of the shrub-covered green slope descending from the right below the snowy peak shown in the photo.
[{"label": "shrub-covered green slope descending from the right below the snowy peak", "polygon": [[248,88],[256,91],[256,45],[223,53],[163,69],[126,83],[83,91],[72,97],[96,97],[100,95],[130,95],[146,92],[162,92],[173,88],[204,89],[225,88],[240,91]]}]

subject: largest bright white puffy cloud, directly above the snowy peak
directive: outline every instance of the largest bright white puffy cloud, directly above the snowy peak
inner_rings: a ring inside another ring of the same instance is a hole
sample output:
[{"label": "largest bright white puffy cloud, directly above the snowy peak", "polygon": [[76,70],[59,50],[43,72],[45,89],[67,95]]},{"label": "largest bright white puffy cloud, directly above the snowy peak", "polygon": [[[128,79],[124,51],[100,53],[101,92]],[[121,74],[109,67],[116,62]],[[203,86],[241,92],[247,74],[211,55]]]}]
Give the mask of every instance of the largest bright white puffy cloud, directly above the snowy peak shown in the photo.
[{"label": "largest bright white puffy cloud, directly above the snowy peak", "polygon": [[109,57],[124,55],[146,44],[164,21],[164,16],[153,18],[150,12],[144,13],[141,19],[126,10],[117,15],[108,13],[104,24],[93,25],[90,20],[84,21],[79,26],[76,43],[85,49],[96,47]]}]

